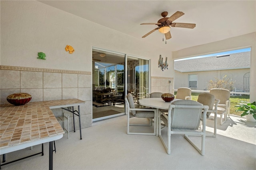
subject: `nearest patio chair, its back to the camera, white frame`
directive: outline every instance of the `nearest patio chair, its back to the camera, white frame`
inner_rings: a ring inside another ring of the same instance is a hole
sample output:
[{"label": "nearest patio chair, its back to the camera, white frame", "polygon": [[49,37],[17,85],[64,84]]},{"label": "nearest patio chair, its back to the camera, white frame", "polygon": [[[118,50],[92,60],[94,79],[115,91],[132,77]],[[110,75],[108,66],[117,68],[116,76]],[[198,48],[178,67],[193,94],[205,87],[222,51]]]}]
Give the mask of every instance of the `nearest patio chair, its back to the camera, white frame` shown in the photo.
[{"label": "nearest patio chair, its back to the camera, white frame", "polygon": [[[167,126],[168,132],[168,142],[165,143],[161,130],[159,131],[159,137],[166,148],[168,154],[171,153],[171,136],[172,134],[183,134],[184,138],[198,150],[201,155],[205,154],[205,136],[206,136],[206,113],[208,111],[208,106],[202,105],[197,101],[192,100],[177,100],[169,105],[168,115],[161,112],[161,117],[159,118],[159,127],[161,125],[161,119],[164,125]],[[202,130],[198,130],[200,125],[200,120],[202,117]],[[196,146],[188,136],[199,135],[201,136],[201,147]],[[178,142],[178,141],[177,141]]]}]

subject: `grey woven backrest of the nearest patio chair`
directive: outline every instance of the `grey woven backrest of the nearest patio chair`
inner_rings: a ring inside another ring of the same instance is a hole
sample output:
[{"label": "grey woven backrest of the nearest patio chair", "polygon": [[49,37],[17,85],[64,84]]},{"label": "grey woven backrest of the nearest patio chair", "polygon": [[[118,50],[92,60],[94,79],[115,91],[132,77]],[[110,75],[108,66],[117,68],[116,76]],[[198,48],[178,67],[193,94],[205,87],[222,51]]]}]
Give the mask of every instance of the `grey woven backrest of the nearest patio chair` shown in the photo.
[{"label": "grey woven backrest of the nearest patio chair", "polygon": [[[172,108],[172,105],[175,105]],[[198,129],[204,106],[192,100],[174,101],[169,106],[168,114],[171,114],[171,128]],[[170,110],[170,108],[172,108]]]}]

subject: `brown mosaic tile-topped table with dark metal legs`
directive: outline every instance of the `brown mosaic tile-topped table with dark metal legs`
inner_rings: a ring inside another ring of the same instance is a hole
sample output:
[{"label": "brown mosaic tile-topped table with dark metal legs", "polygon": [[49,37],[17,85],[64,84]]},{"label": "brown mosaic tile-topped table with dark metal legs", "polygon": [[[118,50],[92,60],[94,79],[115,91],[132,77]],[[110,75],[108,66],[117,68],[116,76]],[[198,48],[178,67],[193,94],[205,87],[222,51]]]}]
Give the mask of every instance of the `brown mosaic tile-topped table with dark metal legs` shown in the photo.
[{"label": "brown mosaic tile-topped table with dark metal legs", "polygon": [[[51,109],[65,109],[64,107],[72,107],[72,110],[65,110],[72,112],[73,117],[74,114],[79,117],[80,139],[82,139],[80,105],[83,105],[84,103],[84,101],[79,99],[66,99],[30,102],[21,106],[14,106],[10,104],[1,105],[0,154],[6,154],[37,144],[49,142],[49,169],[52,170],[53,141],[62,138],[64,130],[58,123]],[[78,111],[74,111],[74,106],[78,106]]]}]

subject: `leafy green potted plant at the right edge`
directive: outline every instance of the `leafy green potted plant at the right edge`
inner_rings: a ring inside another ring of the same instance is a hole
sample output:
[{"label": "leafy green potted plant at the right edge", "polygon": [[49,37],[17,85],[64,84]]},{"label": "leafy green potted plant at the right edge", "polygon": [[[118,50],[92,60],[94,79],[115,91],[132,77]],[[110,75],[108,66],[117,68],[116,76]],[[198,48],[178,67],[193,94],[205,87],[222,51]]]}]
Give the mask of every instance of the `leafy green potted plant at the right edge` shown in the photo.
[{"label": "leafy green potted plant at the right edge", "polygon": [[246,116],[246,120],[250,122],[256,122],[256,102],[253,103],[247,101],[240,101],[235,107],[238,107],[236,111],[242,111],[241,117]]}]

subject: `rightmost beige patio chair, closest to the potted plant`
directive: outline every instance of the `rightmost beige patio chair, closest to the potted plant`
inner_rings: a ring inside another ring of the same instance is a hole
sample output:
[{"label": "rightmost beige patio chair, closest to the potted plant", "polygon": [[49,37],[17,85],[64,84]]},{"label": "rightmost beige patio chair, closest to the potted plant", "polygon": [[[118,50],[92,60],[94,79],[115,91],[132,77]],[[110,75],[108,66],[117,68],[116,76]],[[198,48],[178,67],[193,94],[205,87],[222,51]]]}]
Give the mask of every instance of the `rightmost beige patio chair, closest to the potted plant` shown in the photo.
[{"label": "rightmost beige patio chair, closest to the potted plant", "polygon": [[217,114],[220,115],[220,125],[223,125],[230,115],[230,91],[226,89],[210,89],[210,94],[214,95],[215,99],[220,100]]}]

